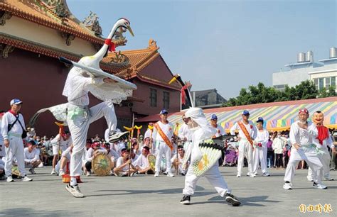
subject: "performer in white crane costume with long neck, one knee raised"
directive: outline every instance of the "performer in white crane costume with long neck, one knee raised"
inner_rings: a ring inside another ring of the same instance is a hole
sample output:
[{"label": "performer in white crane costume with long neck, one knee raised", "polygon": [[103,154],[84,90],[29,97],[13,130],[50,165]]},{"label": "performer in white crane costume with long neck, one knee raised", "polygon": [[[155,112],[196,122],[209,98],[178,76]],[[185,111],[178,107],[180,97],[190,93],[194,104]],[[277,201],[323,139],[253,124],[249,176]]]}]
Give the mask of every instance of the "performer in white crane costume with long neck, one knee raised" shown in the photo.
[{"label": "performer in white crane costume with long neck, one knee raised", "polygon": [[[82,57],[79,62],[60,57],[61,62],[73,65],[63,89],[63,96],[67,96],[68,104],[38,111],[41,113],[49,110],[58,121],[68,123],[73,138],[73,153],[70,160],[70,184],[66,186],[66,189],[75,197],[84,197],[77,185],[76,177],[80,176],[82,172],[82,156],[85,152],[87,130],[90,123],[105,116],[108,128],[114,133],[110,136],[109,142],[119,140],[124,135],[116,132],[117,117],[113,104],[119,104],[122,100],[126,100],[127,96],[132,96],[132,91],[137,87],[113,74],[103,72],[100,69],[100,61],[107,54],[108,48],[114,46],[112,37],[118,28],[127,28],[133,35],[129,25],[127,19],[120,18],[105,40],[105,45],[95,55]],[[89,92],[103,102],[89,108]],[[32,118],[33,121],[37,116]]]}]

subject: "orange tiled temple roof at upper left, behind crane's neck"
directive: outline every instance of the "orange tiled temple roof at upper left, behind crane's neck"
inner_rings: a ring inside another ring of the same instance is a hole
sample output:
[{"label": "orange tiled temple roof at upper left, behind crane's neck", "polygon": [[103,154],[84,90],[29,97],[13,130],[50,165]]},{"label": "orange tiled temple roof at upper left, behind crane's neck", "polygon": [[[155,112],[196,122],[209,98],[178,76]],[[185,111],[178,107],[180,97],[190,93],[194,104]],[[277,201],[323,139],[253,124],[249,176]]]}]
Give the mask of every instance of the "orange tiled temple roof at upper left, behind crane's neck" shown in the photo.
[{"label": "orange tiled temple roof at upper left, behind crane's neck", "polygon": [[[103,38],[97,37],[74,16],[60,18],[41,0],[3,0],[0,2],[0,10],[48,28],[73,34],[92,43],[104,44]],[[126,40],[114,40],[114,43],[117,46],[124,45]]]}]

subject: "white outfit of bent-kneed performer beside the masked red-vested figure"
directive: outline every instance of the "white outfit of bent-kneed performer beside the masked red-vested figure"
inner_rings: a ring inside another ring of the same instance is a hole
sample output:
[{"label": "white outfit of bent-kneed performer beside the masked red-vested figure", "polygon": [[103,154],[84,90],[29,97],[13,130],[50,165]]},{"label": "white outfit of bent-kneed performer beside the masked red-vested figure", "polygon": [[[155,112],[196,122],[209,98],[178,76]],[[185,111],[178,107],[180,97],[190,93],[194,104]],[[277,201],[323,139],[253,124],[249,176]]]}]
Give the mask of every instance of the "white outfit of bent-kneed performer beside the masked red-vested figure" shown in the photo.
[{"label": "white outfit of bent-kneed performer beside the masked red-vested figure", "polygon": [[[284,182],[292,182],[299,161],[305,160],[309,167],[314,171],[320,170],[323,165],[317,156],[316,146],[313,145],[313,138],[318,135],[317,128],[314,123],[308,122],[308,129],[300,128],[299,121],[295,121],[290,126],[289,139],[291,145],[295,143],[301,145],[299,150],[294,146],[291,147],[291,153],[286,172],[284,174]],[[314,182],[321,184],[321,174],[315,176]]]}]

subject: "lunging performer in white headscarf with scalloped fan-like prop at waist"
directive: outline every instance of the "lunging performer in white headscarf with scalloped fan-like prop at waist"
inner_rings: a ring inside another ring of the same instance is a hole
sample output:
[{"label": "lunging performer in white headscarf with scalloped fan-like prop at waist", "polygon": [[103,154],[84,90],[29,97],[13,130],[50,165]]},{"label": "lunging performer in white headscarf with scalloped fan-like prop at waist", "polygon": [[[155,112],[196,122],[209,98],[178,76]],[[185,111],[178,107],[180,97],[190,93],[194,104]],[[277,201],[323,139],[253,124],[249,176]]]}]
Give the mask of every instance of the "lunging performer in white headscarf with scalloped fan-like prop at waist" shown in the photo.
[{"label": "lunging performer in white headscarf with scalloped fan-like prop at waist", "polygon": [[[203,140],[209,139],[215,135],[216,130],[210,126],[205,118],[203,110],[200,108],[188,109],[188,111],[185,113],[185,116],[188,118],[189,128],[193,130],[193,150],[191,154],[191,166],[188,167],[185,178],[185,188],[183,189],[183,199],[181,199],[181,204],[190,204],[191,195],[194,194],[196,183],[200,178],[200,176],[197,176],[193,171],[192,165],[193,162],[203,158],[203,155],[200,152],[199,143],[202,143]],[[221,155],[219,155],[219,157],[220,156]],[[206,177],[206,179],[208,179],[208,182],[212,184],[215,190],[218,191],[218,194],[225,198],[225,201],[232,204],[232,206],[239,206],[241,204],[240,201],[231,194],[227,183],[219,172],[218,163],[215,163],[203,175]]]}]

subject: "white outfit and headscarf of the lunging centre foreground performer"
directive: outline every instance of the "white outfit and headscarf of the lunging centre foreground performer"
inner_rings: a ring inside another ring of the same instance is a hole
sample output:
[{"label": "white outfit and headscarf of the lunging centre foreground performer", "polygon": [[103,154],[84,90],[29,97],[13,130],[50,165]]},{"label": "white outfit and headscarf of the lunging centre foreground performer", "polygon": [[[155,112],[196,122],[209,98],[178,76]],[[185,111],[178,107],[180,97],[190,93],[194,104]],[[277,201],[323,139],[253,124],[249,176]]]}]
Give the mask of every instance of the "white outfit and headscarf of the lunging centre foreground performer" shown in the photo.
[{"label": "white outfit and headscarf of the lunging centre foreground performer", "polygon": [[[191,111],[193,110],[198,109],[191,108]],[[191,165],[193,165],[193,162],[195,160],[200,160],[200,157],[202,157],[199,149],[199,143],[207,138],[211,138],[216,133],[215,128],[211,127],[208,121],[206,120],[202,110],[200,111],[200,113],[194,115],[194,117],[191,116],[191,119],[196,123],[198,123],[198,125],[200,126],[197,130],[193,131],[193,139],[192,139],[193,150],[191,154]],[[186,111],[185,115],[186,117],[189,117],[188,111]],[[225,196],[226,193],[230,193],[230,189],[228,188],[225,179],[223,179],[223,177],[220,174],[218,163],[215,163],[213,167],[210,167],[210,169],[208,169],[208,171],[205,172],[204,177],[208,179],[208,182],[210,182],[210,184],[215,188],[215,190],[218,191],[218,194],[220,194],[220,196]],[[194,194],[198,179],[200,179],[200,177],[197,177],[196,174],[194,174],[193,167],[192,166],[188,167],[187,174],[185,177],[185,188],[183,189],[183,194],[187,195]]]}]

